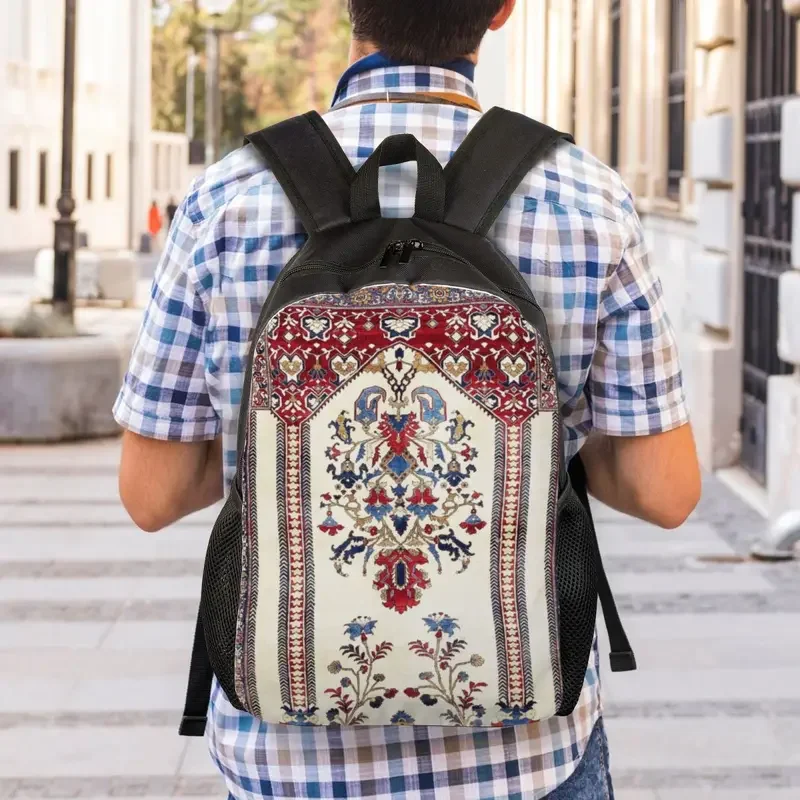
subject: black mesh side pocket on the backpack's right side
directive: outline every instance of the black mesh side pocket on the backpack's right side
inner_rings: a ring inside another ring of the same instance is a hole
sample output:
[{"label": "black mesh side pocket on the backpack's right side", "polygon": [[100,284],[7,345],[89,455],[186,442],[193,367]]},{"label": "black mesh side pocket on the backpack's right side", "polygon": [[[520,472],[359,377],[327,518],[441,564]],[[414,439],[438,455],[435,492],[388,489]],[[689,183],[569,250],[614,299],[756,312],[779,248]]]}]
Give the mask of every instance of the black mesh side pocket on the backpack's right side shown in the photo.
[{"label": "black mesh side pocket on the backpack's right side", "polygon": [[563,695],[557,713],[571,714],[580,697],[597,618],[594,525],[575,490],[567,485],[556,531],[556,592]]}]

